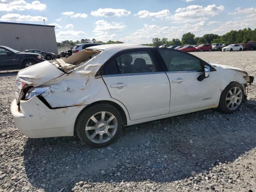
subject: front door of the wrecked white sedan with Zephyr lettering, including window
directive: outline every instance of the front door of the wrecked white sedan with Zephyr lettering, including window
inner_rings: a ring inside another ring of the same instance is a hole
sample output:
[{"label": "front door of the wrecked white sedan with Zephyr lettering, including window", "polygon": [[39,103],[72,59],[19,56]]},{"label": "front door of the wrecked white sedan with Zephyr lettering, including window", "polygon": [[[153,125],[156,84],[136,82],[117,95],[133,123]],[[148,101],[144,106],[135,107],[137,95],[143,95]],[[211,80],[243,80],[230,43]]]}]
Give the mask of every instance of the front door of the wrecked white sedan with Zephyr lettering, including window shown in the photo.
[{"label": "front door of the wrecked white sedan with Zephyr lettering, including window", "polygon": [[214,72],[202,81],[197,80],[203,73],[201,60],[182,52],[158,50],[170,80],[170,113],[213,106],[218,102],[220,79]]}]

